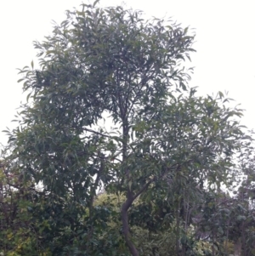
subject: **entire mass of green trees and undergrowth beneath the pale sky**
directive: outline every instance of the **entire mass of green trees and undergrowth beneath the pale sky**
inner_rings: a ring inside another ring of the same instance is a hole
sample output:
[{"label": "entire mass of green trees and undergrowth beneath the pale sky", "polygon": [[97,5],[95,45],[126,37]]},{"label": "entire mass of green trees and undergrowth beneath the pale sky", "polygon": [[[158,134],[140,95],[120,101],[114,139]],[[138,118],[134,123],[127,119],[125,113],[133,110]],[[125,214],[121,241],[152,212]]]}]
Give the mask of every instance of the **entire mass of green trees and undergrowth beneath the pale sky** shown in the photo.
[{"label": "entire mass of green trees and undergrowth beneath the pale sky", "polygon": [[189,87],[189,28],[97,2],[67,12],[35,42],[39,68],[20,70],[0,253],[255,255],[242,110]]}]

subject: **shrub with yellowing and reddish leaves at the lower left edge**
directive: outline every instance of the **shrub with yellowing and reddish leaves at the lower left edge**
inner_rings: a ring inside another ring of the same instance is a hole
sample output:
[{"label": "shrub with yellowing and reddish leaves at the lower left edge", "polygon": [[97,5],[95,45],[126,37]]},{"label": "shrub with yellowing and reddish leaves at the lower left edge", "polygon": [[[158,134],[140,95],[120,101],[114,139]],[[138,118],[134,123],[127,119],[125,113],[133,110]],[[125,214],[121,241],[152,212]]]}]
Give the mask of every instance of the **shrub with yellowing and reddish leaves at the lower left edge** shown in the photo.
[{"label": "shrub with yellowing and reddish leaves at the lower left edge", "polygon": [[5,153],[0,162],[0,254],[48,255],[43,223],[36,216],[42,207],[37,190],[31,180],[22,182],[17,162],[8,162]]}]

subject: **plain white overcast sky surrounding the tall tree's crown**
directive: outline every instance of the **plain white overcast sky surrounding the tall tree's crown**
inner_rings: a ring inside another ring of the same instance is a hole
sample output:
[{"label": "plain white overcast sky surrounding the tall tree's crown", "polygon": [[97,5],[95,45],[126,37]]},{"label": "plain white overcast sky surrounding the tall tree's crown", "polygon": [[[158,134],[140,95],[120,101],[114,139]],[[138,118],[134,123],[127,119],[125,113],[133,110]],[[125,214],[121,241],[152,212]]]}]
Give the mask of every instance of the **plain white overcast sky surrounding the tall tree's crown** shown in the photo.
[{"label": "plain white overcast sky surrounding the tall tree's crown", "polygon": [[[93,2],[93,1],[91,1]],[[15,108],[25,100],[17,68],[36,61],[32,41],[41,41],[52,31],[51,20],[65,20],[65,10],[79,7],[82,0],[1,1],[0,9],[0,131],[14,128]],[[83,3],[88,3],[83,0]],[[122,0],[101,0],[101,6]],[[190,84],[201,94],[229,91],[246,109],[243,124],[255,128],[255,1],[247,0],[126,0],[127,7],[141,9],[147,17],[173,17],[195,28],[197,50],[192,63],[195,73]],[[0,142],[7,138],[0,133]]]}]

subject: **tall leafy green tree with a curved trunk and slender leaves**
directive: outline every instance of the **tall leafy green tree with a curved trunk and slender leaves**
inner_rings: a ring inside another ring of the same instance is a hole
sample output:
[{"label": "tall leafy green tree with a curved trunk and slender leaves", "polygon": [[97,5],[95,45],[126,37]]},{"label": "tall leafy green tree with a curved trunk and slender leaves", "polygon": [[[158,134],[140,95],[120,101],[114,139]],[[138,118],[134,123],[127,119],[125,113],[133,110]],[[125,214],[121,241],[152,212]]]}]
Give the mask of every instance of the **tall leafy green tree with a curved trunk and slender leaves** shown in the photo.
[{"label": "tall leafy green tree with a curved trunk and slender leaves", "polygon": [[89,244],[104,228],[99,219],[111,215],[94,207],[103,186],[125,195],[120,236],[139,255],[128,222],[136,198],[164,198],[177,187],[178,221],[182,188],[228,182],[243,136],[235,121],[241,111],[225,106],[222,93],[199,97],[188,87],[184,61],[193,41],[188,28],[171,21],[145,21],[139,11],[94,3],[67,12],[51,36],[35,43],[40,66],[20,70],[28,103],[9,141],[20,174],[42,184],[54,209],[54,239],[68,225],[78,234],[69,244],[83,232],[81,253],[99,255]]}]

